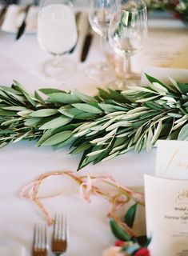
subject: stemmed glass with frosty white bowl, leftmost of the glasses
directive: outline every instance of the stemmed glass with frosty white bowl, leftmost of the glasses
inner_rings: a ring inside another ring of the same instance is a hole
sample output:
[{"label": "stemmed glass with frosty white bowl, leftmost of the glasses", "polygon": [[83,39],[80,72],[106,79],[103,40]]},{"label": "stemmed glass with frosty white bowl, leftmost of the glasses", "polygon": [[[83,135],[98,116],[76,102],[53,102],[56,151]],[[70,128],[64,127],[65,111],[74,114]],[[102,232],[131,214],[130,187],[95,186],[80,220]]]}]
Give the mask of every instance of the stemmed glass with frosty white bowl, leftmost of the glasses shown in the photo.
[{"label": "stemmed glass with frosty white bowl, leftmost of the glasses", "polygon": [[38,43],[54,55],[42,66],[50,78],[63,80],[75,71],[73,62],[61,55],[68,53],[78,38],[73,6],[70,0],[42,0],[38,13]]}]

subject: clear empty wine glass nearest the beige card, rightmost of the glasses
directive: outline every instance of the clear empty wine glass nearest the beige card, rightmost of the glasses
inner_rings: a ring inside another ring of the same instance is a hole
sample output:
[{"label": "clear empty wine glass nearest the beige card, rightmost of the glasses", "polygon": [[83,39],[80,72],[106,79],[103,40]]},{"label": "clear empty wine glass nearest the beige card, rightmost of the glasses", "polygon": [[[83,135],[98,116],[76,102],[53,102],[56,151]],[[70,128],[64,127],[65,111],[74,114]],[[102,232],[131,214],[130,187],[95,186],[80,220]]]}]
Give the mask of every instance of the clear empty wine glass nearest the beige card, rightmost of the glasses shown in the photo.
[{"label": "clear empty wine glass nearest the beige card, rightmost of the glasses", "polygon": [[110,19],[109,42],[115,53],[124,59],[123,86],[140,78],[131,71],[130,56],[138,53],[147,38],[147,10],[142,0],[119,0]]}]

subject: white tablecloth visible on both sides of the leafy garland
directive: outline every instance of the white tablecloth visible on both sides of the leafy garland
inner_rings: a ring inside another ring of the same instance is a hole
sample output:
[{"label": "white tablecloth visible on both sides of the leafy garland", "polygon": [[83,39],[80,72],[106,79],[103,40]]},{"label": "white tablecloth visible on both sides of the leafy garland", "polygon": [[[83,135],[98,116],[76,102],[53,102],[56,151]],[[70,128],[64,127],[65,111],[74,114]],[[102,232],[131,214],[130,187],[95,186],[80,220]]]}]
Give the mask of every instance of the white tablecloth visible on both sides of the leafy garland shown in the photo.
[{"label": "white tablecloth visible on both sides of the leafy garland", "polygon": [[[46,79],[40,73],[40,65],[50,56],[38,46],[36,34],[26,34],[18,42],[14,34],[0,32],[0,84],[10,85],[13,79],[21,82],[27,90],[34,92],[42,87],[60,89],[77,88],[88,94],[95,94],[96,87],[105,84],[92,82],[86,78],[84,70],[93,62],[102,60],[98,54],[99,38],[95,37],[90,54],[84,63],[79,62],[80,38],[74,54],[68,58],[77,63],[77,73],[64,82]],[[65,87],[66,86],[66,87]],[[35,142],[18,142],[0,150],[0,246],[25,246],[30,254],[34,222],[42,221],[38,207],[26,198],[21,198],[19,191],[22,186],[53,170],[76,171],[80,156],[71,156],[68,148],[54,150],[51,147],[34,146]],[[143,174],[154,174],[156,149],[150,154],[130,152],[108,162],[96,166],[86,166],[80,174],[111,174],[124,186],[143,190]],[[70,243],[69,256],[98,256],[106,247],[114,242],[113,234],[106,214],[110,205],[104,199],[93,196],[92,203],[87,203],[78,194],[78,186],[69,179],[56,180],[46,185],[46,190],[62,190],[66,184],[69,190],[65,196],[46,199],[43,202],[50,210],[66,212],[69,218]],[[142,210],[141,210],[142,211]],[[139,218],[140,222],[143,219]],[[51,234],[49,228],[49,234]],[[144,223],[142,230],[144,232]]]}]

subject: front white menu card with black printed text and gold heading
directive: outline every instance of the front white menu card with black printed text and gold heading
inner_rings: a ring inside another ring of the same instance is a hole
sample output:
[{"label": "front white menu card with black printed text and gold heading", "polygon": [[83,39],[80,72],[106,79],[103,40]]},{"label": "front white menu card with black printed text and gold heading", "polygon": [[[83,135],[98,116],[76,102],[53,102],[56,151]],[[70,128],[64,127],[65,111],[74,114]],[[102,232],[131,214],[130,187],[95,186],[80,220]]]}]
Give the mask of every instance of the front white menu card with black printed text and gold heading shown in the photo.
[{"label": "front white menu card with black printed text and gold heading", "polygon": [[144,175],[152,256],[188,255],[188,180]]}]

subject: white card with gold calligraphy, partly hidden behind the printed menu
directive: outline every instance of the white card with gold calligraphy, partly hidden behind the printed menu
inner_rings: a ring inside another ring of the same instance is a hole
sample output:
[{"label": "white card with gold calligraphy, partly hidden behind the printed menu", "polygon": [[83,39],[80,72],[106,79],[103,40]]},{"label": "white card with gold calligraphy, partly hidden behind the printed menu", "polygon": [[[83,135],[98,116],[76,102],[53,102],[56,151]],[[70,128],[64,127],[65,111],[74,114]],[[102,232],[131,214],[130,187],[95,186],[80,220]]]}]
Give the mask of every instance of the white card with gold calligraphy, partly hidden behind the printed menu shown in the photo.
[{"label": "white card with gold calligraphy, partly hidden behind the printed menu", "polygon": [[188,142],[158,140],[156,176],[188,180]]}]

